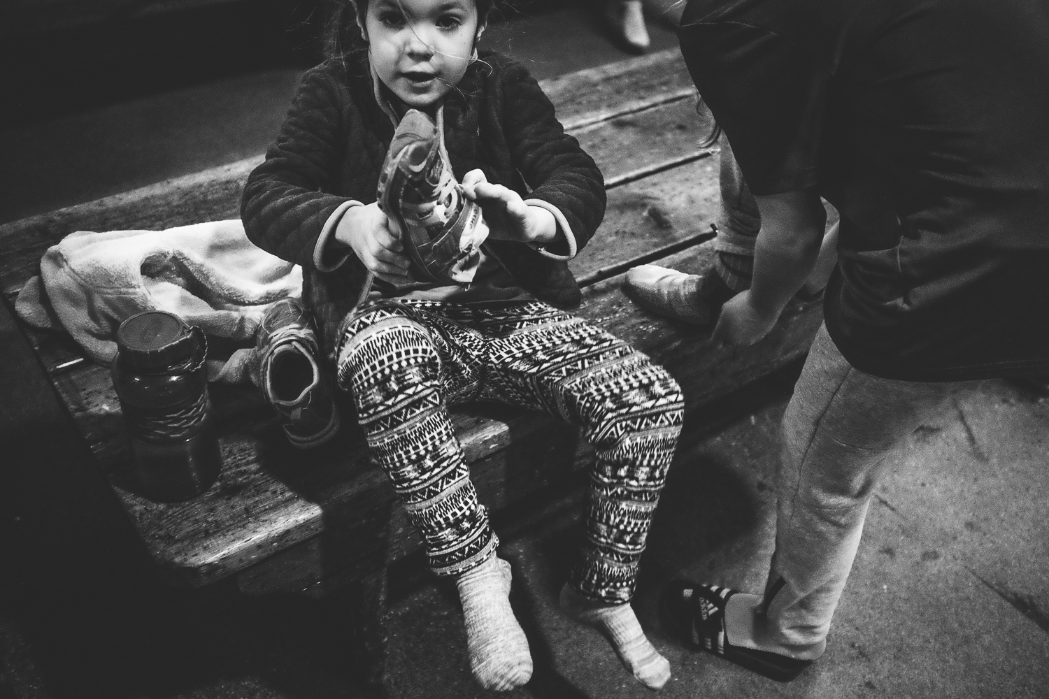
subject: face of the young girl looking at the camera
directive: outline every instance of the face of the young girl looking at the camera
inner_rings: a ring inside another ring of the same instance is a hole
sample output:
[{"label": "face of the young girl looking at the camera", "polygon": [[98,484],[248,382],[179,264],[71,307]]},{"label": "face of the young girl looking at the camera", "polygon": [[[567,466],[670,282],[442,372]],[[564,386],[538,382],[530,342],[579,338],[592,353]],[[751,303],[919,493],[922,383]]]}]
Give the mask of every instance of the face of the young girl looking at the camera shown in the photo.
[{"label": "face of the young girl looking at the camera", "polygon": [[365,30],[379,80],[426,109],[463,79],[477,26],[474,0],[369,0]]}]

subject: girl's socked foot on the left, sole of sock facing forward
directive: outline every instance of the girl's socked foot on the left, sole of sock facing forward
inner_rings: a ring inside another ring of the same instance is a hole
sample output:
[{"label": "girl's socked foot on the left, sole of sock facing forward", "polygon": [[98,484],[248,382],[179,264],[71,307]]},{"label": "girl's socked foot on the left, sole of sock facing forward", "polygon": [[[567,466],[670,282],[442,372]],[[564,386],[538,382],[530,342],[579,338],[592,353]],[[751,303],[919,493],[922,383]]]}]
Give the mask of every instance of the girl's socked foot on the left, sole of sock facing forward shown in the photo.
[{"label": "girl's socked foot on the left, sole of sock facing forward", "polygon": [[510,564],[494,555],[455,580],[470,670],[486,690],[512,690],[532,677],[528,638],[510,608]]}]

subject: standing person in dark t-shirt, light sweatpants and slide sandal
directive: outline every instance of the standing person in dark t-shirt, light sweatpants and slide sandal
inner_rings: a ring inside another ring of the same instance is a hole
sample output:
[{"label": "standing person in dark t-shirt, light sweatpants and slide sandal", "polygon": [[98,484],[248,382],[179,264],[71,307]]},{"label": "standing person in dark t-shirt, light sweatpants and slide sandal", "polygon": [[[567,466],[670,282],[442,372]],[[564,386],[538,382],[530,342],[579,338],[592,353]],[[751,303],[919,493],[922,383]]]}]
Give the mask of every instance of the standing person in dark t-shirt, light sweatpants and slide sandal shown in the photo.
[{"label": "standing person in dark t-shirt, light sweatpants and slide sandal", "polygon": [[714,337],[765,336],[815,265],[820,195],[841,215],[765,592],[666,596],[690,642],[783,680],[826,649],[886,453],[956,381],[1049,370],[1049,3],[691,0],[679,37],[762,219]]}]

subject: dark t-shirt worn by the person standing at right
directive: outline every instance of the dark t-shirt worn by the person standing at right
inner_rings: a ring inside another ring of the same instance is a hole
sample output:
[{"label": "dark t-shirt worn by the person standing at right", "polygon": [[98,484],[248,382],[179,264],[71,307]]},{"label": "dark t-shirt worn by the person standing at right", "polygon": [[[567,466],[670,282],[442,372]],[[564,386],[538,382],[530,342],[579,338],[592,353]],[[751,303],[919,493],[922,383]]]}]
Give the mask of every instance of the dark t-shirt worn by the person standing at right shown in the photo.
[{"label": "dark t-shirt worn by the person standing at right", "polygon": [[840,212],[850,363],[1049,372],[1049,2],[691,0],[679,37],[751,190]]}]

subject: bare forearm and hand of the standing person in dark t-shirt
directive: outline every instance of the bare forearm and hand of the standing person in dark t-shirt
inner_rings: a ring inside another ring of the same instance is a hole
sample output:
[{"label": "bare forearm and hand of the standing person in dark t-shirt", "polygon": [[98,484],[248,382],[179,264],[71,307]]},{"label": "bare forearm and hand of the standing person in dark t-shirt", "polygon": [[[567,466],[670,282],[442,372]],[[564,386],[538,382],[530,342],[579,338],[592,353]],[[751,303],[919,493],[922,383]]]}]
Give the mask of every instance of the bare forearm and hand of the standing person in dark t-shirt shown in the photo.
[{"label": "bare forearm and hand of the standing person in dark t-shirt", "polygon": [[779,320],[819,258],[827,212],[815,189],[757,196],[762,232],[754,245],[750,288],[730,299],[714,326],[726,345],[753,345]]}]

